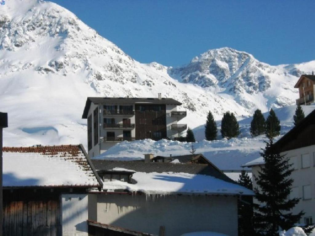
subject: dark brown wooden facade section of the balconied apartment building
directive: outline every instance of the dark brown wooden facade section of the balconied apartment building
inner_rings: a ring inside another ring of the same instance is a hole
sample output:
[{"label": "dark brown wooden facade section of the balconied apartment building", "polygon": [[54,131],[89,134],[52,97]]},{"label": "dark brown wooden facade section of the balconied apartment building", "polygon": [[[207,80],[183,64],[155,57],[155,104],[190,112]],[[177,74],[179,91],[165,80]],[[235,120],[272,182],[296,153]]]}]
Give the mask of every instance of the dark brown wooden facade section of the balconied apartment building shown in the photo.
[{"label": "dark brown wooden facade section of the balconied apartment building", "polygon": [[160,140],[167,137],[166,105],[135,105],[136,140],[151,138]]}]

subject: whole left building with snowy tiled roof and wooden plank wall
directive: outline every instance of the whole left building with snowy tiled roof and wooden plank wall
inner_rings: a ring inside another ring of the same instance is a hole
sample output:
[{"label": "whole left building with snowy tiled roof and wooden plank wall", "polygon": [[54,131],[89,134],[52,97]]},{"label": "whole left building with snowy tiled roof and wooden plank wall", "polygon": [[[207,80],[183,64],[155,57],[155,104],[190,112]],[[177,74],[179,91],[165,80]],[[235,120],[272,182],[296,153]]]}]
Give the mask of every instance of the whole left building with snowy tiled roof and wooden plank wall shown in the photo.
[{"label": "whole left building with snowy tiled roof and wooden plank wall", "polygon": [[88,235],[102,186],[82,145],[3,148],[3,235]]}]

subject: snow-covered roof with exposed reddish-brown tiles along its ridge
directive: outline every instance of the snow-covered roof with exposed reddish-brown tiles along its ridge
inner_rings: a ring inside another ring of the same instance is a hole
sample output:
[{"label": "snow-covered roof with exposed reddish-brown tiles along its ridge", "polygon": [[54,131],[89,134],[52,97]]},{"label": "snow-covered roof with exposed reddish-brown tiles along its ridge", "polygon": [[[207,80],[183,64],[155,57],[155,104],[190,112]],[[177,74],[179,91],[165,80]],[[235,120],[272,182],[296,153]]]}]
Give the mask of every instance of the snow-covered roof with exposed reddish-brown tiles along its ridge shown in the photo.
[{"label": "snow-covered roof with exposed reddish-brown tiles along its ridge", "polygon": [[4,147],[3,187],[100,187],[82,145]]}]

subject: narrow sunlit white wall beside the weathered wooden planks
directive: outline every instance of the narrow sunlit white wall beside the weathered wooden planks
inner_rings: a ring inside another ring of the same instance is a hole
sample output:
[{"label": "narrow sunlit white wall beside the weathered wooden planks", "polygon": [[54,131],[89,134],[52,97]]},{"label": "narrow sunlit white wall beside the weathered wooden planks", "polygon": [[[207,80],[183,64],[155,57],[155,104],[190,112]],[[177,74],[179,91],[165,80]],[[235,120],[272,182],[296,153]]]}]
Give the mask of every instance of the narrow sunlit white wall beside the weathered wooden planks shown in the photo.
[{"label": "narrow sunlit white wall beside the weathered wooden planks", "polygon": [[62,194],[62,235],[88,236],[88,195]]}]

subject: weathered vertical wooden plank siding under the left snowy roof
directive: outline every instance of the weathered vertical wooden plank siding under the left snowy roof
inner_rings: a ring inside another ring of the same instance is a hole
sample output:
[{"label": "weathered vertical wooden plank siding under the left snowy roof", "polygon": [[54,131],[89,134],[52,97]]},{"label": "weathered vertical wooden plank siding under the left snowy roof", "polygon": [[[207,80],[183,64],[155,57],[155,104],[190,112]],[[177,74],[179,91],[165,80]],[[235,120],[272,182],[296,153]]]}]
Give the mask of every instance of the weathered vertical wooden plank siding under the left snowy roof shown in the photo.
[{"label": "weathered vertical wooden plank siding under the left snowy roof", "polygon": [[61,235],[60,200],[3,202],[3,235]]}]

